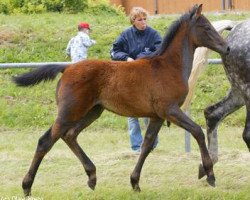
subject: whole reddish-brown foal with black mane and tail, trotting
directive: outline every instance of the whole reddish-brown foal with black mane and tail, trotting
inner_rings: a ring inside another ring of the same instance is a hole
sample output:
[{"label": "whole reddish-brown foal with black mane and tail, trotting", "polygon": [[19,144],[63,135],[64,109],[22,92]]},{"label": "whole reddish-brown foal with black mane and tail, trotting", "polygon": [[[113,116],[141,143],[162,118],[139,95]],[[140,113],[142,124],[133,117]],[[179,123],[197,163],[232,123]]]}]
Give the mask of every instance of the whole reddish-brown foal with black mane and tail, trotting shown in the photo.
[{"label": "whole reddish-brown foal with black mane and tail, trotting", "polygon": [[197,140],[207,181],[215,185],[213,163],[200,126],[180,109],[188,93],[188,77],[196,47],[205,46],[221,54],[229,47],[210,22],[201,14],[202,5],[182,15],[170,27],[155,55],[133,62],[86,60],[68,66],[50,65],[28,72],[14,81],[30,86],[53,80],[63,73],[56,91],[58,116],[39,139],[30,169],[23,179],[25,195],[30,195],[38,167],[46,153],[61,138],[81,161],[88,186],[96,186],[96,167],[77,142],[77,136],[104,109],[122,116],[149,117],[138,162],[130,181],[140,191],[143,163],[151,151],[164,120],[189,131]]}]

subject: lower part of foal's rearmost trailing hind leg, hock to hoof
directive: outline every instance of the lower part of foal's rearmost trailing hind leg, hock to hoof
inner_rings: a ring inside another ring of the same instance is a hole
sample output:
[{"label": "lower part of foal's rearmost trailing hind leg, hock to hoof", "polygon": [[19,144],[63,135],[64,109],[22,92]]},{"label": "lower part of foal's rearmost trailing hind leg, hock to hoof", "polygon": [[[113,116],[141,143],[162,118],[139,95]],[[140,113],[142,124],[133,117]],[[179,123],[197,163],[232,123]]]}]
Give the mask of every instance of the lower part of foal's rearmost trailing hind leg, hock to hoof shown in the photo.
[{"label": "lower part of foal's rearmost trailing hind leg, hock to hoof", "polygon": [[38,167],[43,157],[46,155],[47,152],[49,152],[49,150],[59,138],[60,135],[57,134],[57,132],[53,132],[52,128],[50,128],[47,132],[44,133],[42,137],[40,137],[31,166],[22,182],[23,192],[25,196],[31,195],[31,187],[34,182]]}]

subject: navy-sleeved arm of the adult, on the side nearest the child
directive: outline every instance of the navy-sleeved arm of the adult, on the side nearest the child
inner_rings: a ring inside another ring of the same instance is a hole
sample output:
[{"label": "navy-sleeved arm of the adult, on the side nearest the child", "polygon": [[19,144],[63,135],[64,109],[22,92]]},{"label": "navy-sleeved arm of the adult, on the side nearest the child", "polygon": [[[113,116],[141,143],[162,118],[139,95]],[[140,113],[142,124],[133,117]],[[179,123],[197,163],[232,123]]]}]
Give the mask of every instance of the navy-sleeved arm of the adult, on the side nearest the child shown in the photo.
[{"label": "navy-sleeved arm of the adult, on the side nearest the child", "polygon": [[125,50],[125,39],[122,36],[119,36],[114,42],[110,55],[112,60],[128,60],[129,55]]}]

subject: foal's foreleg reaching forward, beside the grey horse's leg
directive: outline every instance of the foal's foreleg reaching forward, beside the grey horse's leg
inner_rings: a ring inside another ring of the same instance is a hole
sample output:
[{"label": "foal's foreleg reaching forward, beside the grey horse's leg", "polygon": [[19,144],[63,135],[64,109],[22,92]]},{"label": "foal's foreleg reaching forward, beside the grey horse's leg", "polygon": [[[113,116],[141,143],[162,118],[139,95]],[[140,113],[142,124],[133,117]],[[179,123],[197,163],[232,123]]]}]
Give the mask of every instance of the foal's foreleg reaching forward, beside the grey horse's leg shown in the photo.
[{"label": "foal's foreleg reaching forward, beside the grey horse's leg", "polygon": [[190,118],[188,118],[177,105],[174,105],[169,109],[167,117],[176,125],[190,132],[196,139],[201,152],[202,164],[207,174],[207,182],[209,183],[209,185],[215,186],[213,162],[209,156],[205,142],[205,135],[201,127],[193,122]]}]

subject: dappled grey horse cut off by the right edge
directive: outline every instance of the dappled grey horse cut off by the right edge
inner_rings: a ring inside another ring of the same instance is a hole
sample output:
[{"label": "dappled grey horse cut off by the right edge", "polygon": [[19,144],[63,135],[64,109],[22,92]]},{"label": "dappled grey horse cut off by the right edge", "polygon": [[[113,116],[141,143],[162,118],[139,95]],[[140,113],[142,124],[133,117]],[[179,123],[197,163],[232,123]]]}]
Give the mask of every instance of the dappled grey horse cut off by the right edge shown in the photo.
[{"label": "dappled grey horse cut off by the right edge", "polygon": [[[243,139],[250,151],[250,20],[234,27],[227,37],[230,53],[222,55],[224,70],[231,83],[226,97],[205,109],[208,149],[213,163],[218,161],[217,127],[229,114],[246,106]],[[205,173],[200,167],[199,177]]]}]

